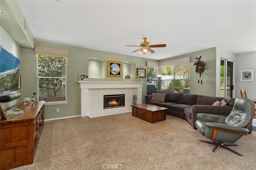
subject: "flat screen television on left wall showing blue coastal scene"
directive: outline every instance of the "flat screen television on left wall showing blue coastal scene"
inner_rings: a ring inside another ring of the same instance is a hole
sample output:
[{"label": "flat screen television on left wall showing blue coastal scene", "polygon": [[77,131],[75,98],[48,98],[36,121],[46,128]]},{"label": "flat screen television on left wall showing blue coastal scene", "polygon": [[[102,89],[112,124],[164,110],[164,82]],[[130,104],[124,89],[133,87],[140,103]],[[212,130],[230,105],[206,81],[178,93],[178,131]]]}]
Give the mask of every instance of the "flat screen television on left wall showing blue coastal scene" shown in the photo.
[{"label": "flat screen television on left wall showing blue coastal scene", "polygon": [[18,91],[20,59],[0,45],[0,96]]}]

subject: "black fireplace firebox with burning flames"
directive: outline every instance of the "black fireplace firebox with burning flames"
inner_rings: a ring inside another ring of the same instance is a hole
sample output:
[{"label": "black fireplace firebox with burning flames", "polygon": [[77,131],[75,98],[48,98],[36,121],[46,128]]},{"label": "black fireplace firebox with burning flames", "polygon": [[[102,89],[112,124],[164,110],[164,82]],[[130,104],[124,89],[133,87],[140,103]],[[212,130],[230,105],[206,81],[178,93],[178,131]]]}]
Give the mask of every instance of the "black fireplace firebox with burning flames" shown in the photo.
[{"label": "black fireplace firebox with burning flames", "polygon": [[122,95],[104,95],[104,109],[114,107],[124,107],[124,94]]}]

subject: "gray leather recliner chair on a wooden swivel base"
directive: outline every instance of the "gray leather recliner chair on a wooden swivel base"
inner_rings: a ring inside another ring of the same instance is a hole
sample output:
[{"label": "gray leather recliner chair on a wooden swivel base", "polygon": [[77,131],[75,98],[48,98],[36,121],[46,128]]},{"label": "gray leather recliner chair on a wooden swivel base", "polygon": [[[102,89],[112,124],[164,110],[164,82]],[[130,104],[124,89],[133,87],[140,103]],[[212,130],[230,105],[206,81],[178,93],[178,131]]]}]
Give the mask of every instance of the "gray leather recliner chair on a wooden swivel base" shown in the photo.
[{"label": "gray leather recliner chair on a wooden swivel base", "polygon": [[[227,146],[238,146],[234,143],[243,135],[247,135],[250,132],[248,128],[252,125],[255,114],[254,107],[254,103],[250,99],[238,97],[235,99],[234,107],[228,117],[199,113],[195,123],[197,129],[206,138],[214,140],[214,142],[206,140],[199,141],[216,144],[212,152],[216,152],[222,146],[231,152],[243,156]],[[228,144],[223,142],[227,142]]]}]

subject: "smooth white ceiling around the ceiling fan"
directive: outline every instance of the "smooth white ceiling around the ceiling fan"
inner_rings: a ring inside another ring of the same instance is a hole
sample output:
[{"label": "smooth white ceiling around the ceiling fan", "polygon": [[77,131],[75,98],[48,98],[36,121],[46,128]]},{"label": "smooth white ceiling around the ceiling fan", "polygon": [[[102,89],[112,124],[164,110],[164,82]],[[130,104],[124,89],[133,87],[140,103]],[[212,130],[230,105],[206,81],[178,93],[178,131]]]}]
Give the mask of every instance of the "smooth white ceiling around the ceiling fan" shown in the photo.
[{"label": "smooth white ceiling around the ceiling fan", "polygon": [[[35,40],[164,59],[211,47],[256,51],[255,0],[18,0]],[[142,38],[155,53],[140,54]]]}]

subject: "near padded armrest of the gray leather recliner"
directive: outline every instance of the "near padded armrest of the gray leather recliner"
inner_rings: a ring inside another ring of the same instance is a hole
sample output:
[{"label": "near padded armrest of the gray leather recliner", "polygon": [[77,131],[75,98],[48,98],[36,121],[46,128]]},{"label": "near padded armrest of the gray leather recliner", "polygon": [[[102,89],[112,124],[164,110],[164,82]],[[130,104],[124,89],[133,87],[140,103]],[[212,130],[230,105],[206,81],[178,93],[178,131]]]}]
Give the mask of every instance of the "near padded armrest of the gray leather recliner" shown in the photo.
[{"label": "near padded armrest of the gray leather recliner", "polygon": [[208,122],[205,125],[208,126],[209,128],[218,128],[220,131],[228,130],[228,131],[238,132],[238,133],[249,133],[250,132],[250,130],[248,130],[247,128],[234,127],[234,126],[230,126],[230,125],[226,125],[226,124],[222,124],[222,123]]}]

